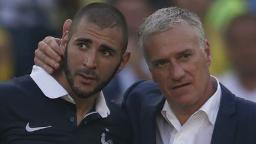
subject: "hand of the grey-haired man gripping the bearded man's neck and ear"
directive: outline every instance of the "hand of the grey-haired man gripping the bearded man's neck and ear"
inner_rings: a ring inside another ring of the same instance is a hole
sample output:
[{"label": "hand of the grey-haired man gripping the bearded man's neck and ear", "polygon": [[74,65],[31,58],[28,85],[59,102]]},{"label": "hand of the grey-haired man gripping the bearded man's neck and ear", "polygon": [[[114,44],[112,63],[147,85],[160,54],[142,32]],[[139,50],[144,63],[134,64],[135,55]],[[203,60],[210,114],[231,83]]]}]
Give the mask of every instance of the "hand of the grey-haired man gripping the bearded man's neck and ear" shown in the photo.
[{"label": "hand of the grey-haired man gripping the bearded man's neck and ear", "polygon": [[60,39],[46,37],[39,42],[35,51],[34,63],[50,74],[60,67],[61,56],[64,55],[64,50],[60,49],[59,43]]}]

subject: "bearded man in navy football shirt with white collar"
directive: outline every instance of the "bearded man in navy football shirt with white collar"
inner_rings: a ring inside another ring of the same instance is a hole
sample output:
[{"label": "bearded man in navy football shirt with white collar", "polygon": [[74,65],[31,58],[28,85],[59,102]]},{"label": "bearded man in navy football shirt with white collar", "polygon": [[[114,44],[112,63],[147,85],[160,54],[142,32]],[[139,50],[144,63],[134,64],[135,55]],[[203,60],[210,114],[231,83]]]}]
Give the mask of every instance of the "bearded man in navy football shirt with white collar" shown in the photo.
[{"label": "bearded man in navy football shirt with white collar", "polygon": [[89,4],[63,25],[63,66],[49,75],[0,83],[0,143],[132,143],[131,126],[101,89],[130,53],[126,20],[107,4]]}]

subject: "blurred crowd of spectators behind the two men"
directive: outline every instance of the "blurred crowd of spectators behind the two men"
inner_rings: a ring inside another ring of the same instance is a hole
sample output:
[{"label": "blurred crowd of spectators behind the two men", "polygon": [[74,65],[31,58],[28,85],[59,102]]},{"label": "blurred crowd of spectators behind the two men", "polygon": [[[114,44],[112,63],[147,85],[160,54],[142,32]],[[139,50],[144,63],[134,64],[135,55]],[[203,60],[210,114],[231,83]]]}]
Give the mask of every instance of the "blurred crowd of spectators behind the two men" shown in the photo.
[{"label": "blurred crowd of spectators behind the two men", "polygon": [[105,97],[120,102],[133,82],[151,79],[137,30],[156,9],[177,6],[201,18],[212,49],[212,75],[236,95],[256,101],[256,0],[0,0],[0,81],[29,74],[39,41],[61,37],[65,20],[91,2],[118,8],[129,25],[132,57],[104,89]]}]

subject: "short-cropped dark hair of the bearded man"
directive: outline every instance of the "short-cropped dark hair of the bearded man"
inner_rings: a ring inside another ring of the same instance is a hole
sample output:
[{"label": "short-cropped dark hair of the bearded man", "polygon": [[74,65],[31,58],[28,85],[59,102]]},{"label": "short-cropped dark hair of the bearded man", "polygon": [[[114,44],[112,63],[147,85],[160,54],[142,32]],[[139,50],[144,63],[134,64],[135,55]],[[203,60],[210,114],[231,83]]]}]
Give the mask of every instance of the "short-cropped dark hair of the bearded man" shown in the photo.
[{"label": "short-cropped dark hair of the bearded man", "polygon": [[88,4],[76,12],[73,17],[71,27],[69,28],[69,37],[72,36],[76,26],[81,22],[82,18],[88,23],[96,24],[100,28],[121,28],[123,32],[123,49],[122,53],[126,52],[128,44],[128,28],[124,15],[111,5],[95,2]]}]

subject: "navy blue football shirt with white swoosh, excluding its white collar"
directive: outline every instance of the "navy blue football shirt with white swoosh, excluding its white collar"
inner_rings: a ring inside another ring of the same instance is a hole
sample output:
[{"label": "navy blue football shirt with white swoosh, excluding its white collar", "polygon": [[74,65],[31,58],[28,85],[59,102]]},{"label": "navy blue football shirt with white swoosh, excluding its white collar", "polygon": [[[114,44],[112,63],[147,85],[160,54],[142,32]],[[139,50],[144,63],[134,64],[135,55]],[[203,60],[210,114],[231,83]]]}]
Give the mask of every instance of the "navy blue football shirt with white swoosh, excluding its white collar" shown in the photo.
[{"label": "navy blue football shirt with white swoosh, excluding its white collar", "polygon": [[77,126],[76,106],[46,97],[30,76],[0,82],[0,143],[132,143],[127,115],[118,105],[106,103],[107,118],[90,114]]}]

